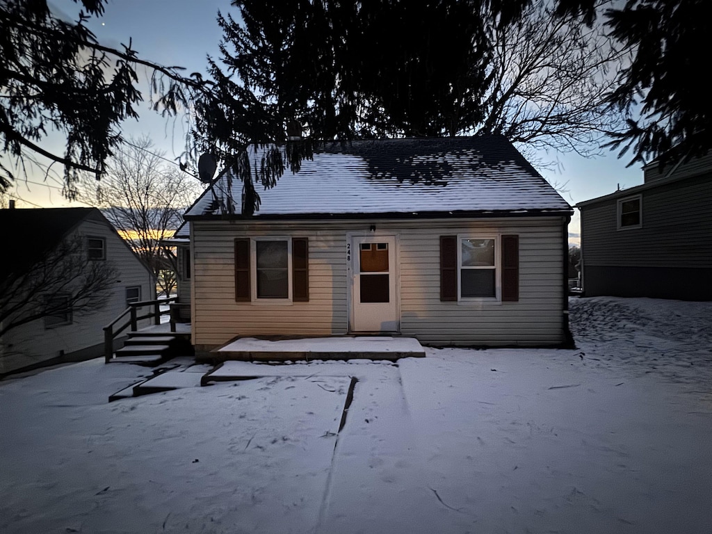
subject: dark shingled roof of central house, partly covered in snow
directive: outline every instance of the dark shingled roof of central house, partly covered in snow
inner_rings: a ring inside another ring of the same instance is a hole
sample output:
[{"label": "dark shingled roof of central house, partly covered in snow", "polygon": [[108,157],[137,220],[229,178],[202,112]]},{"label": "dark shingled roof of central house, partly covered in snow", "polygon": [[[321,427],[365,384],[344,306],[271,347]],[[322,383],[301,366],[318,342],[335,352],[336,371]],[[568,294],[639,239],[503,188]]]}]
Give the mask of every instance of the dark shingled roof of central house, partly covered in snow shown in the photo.
[{"label": "dark shingled roof of central house, partly covered in snow", "polygon": [[[248,152],[254,174],[264,150]],[[328,142],[286,169],[272,189],[257,184],[253,217],[391,214],[536,214],[571,207],[505,137],[444,137]],[[220,214],[229,199],[240,217],[242,185],[218,179],[185,214]]]}]

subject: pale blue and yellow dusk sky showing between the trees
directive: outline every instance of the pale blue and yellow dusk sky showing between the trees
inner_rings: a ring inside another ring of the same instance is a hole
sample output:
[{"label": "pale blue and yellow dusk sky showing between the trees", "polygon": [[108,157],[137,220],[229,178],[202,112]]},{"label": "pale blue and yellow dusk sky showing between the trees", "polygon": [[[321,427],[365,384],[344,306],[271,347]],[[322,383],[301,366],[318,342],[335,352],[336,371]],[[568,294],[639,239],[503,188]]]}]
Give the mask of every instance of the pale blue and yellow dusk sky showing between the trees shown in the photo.
[{"label": "pale blue and yellow dusk sky showing between the trees", "polygon": [[[72,1],[56,0],[51,5],[75,19],[77,7]],[[142,58],[164,65],[182,66],[186,68],[186,73],[204,73],[206,56],[219,56],[222,33],[216,22],[218,10],[224,14],[236,14],[229,0],[110,0],[104,16],[92,20],[89,26],[105,45],[118,47],[132,38],[132,48]],[[174,125],[172,121],[155,115],[148,110],[146,102],[140,107],[140,121],[125,122],[125,137],[150,135],[157,150],[165,152],[167,159],[177,157],[182,152],[184,131],[181,125]],[[551,183],[567,190],[562,194],[570,204],[612,193],[618,186],[628,188],[643,182],[642,169],[638,165],[627,168],[629,159],[618,159],[614,153],[595,159],[549,153],[542,155],[541,159],[560,162],[560,170],[540,169],[540,172]],[[33,178],[33,181],[42,182],[43,177]],[[14,192],[21,199],[38,206],[79,205],[69,204],[62,198],[61,184],[57,180],[48,179],[46,184],[26,184],[20,180]],[[21,202],[18,205],[31,207]],[[576,215],[570,233],[577,234],[578,231]]]}]

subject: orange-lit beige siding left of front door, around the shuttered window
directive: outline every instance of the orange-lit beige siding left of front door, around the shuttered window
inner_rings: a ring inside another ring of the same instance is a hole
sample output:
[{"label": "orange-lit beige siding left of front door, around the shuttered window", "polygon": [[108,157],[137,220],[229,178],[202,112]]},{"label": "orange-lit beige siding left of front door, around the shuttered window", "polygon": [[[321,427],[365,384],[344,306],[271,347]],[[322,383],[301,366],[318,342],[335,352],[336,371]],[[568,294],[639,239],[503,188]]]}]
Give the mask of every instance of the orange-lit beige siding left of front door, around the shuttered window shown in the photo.
[{"label": "orange-lit beige siding left of front door, around the shuttered window", "polygon": [[[284,227],[237,230],[229,224],[199,222],[192,229],[194,345],[214,347],[237,335],[346,333],[346,240],[342,232]],[[254,236],[309,238],[308,302],[235,302],[234,239]]]}]

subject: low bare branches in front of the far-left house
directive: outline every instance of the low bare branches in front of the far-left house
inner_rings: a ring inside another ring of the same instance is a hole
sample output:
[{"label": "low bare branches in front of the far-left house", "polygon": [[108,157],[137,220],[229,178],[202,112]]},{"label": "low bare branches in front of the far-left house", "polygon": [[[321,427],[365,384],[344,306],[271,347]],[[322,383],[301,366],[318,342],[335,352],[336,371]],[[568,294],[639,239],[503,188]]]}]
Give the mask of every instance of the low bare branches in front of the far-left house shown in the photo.
[{"label": "low bare branches in front of the far-left house", "polygon": [[[92,261],[82,236],[71,236],[28,268],[10,268],[0,281],[0,337],[34,320],[103,308],[115,285],[110,262]],[[58,298],[61,296],[61,298]]]}]

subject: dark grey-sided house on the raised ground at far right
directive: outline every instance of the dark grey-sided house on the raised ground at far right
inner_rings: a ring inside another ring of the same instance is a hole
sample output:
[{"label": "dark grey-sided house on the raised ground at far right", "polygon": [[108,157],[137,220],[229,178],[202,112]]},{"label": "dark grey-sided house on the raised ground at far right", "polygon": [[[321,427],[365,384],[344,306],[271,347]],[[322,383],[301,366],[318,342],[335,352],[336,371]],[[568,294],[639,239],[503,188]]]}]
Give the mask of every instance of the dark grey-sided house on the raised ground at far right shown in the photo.
[{"label": "dark grey-sided house on the raised ground at far right", "polygon": [[712,300],[712,154],[577,204],[587,296]]}]

